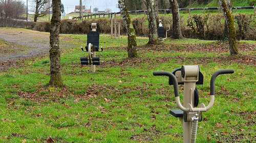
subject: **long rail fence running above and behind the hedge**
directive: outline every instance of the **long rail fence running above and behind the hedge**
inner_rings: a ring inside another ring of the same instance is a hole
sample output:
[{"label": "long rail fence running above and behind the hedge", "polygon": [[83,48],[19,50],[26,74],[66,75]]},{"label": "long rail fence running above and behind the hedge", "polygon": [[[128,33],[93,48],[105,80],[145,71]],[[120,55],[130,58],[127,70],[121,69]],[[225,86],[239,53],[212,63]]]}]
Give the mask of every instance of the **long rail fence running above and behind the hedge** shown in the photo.
[{"label": "long rail fence running above and behind the hedge", "polygon": [[[254,13],[256,11],[256,7],[255,6],[247,6],[247,7],[232,7],[232,9],[235,10],[235,12],[237,12],[238,9],[254,9]],[[203,10],[203,13],[205,13],[205,10],[218,10],[218,12],[220,13],[220,8],[219,7],[209,7],[209,8],[179,8],[179,11],[188,11],[189,14],[191,14],[191,11],[195,11],[195,10]],[[129,11],[129,13],[133,14],[135,13],[136,15],[138,13],[144,13],[144,15],[146,15],[147,10],[133,10],[133,11]],[[163,12],[164,14],[171,12],[171,9],[159,9],[158,12]],[[84,19],[89,19],[89,18],[104,18],[106,16],[108,16],[109,18],[112,17],[112,15],[114,14],[120,14],[120,12],[112,12],[112,13],[91,13],[91,14],[87,14],[87,15],[83,15]],[[81,16],[78,17],[73,17],[72,19],[81,19]]]}]

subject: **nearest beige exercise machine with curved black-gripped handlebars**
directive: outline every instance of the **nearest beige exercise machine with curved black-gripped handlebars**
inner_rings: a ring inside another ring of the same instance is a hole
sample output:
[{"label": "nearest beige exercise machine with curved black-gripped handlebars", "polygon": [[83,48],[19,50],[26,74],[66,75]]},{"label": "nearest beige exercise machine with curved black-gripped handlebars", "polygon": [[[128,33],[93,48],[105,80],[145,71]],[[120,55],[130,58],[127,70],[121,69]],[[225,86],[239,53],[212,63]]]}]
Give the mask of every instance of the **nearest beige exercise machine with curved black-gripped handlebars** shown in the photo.
[{"label": "nearest beige exercise machine with curved black-gripped handlebars", "polygon": [[[210,103],[205,106],[203,103],[198,106],[199,94],[196,84],[203,84],[203,75],[198,65],[183,65],[175,69],[172,73],[168,71],[154,71],[154,76],[168,76],[169,85],[174,85],[176,104],[178,110],[169,110],[169,113],[179,117],[183,126],[183,142],[194,143],[197,136],[198,122],[202,121],[202,112],[209,110],[214,105],[215,79],[222,74],[233,74],[233,69],[223,69],[216,71],[210,79]],[[183,105],[180,103],[178,85],[184,85]],[[183,118],[183,120],[182,120]]]}]

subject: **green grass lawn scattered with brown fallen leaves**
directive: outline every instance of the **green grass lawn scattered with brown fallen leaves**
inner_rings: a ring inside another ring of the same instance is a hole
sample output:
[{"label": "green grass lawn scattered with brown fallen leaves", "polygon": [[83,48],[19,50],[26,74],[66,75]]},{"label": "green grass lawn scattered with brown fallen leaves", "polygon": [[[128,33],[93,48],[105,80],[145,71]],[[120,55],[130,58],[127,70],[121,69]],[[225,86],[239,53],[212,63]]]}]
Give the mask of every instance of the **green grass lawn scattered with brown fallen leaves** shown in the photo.
[{"label": "green grass lawn scattered with brown fallen leaves", "polygon": [[[168,113],[177,109],[173,86],[153,71],[199,65],[204,84],[199,103],[208,105],[211,75],[216,79],[215,105],[203,113],[197,142],[253,142],[255,133],[255,41],[240,41],[238,56],[228,43],[199,39],[165,40],[145,45],[137,37],[139,57],[128,59],[127,39],[100,35],[103,52],[96,73],[80,65],[86,35],[62,34],[76,47],[61,49],[66,88],[44,88],[50,79],[49,57],[18,60],[0,73],[0,142],[182,142],[182,126]],[[0,40],[0,47],[12,44]],[[180,86],[180,97],[182,86]]]}]

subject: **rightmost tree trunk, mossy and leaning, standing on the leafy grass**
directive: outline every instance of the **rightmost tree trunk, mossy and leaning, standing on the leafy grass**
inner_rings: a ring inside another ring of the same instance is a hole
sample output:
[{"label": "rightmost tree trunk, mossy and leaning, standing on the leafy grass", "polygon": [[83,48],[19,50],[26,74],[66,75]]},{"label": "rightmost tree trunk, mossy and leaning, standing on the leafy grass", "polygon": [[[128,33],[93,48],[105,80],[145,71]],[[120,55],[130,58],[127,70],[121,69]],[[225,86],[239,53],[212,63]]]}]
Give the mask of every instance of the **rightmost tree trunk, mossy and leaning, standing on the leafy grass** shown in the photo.
[{"label": "rightmost tree trunk, mossy and leaning, standing on the leafy grass", "polygon": [[227,22],[228,26],[228,41],[229,41],[229,52],[230,55],[238,54],[238,44],[237,44],[237,33],[234,28],[234,20],[233,17],[227,7],[225,0],[218,0],[221,11],[224,15],[225,22]]}]

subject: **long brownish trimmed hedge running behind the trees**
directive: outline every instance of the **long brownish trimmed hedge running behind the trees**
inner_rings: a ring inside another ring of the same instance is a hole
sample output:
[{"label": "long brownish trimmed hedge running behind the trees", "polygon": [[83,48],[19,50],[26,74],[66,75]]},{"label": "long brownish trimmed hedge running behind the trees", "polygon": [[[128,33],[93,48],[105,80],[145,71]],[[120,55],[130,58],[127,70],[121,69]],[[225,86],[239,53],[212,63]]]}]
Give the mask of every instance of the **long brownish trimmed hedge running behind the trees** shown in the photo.
[{"label": "long brownish trimmed hedge running behind the trees", "polygon": [[[256,40],[256,15],[255,14],[236,14],[233,15],[237,36],[239,40]],[[172,17],[159,16],[157,19],[162,19],[162,24],[167,29],[167,24],[170,23],[170,31],[167,35],[172,36]],[[194,14],[189,17],[181,16],[181,31],[185,38],[196,38],[205,40],[221,40],[224,33],[224,17],[222,14]],[[126,34],[123,20],[121,22],[121,35]],[[148,36],[147,18],[136,17],[132,18],[135,32],[137,36]],[[91,19],[91,20],[61,20],[60,33],[62,34],[87,34],[91,31],[91,23],[97,23],[97,31],[99,33],[111,33],[110,19]],[[157,20],[158,25],[158,20]],[[0,26],[3,27],[3,25]],[[11,27],[28,28],[36,31],[49,32],[50,21],[42,22],[26,22],[18,21],[10,25]]]}]

